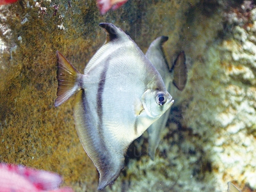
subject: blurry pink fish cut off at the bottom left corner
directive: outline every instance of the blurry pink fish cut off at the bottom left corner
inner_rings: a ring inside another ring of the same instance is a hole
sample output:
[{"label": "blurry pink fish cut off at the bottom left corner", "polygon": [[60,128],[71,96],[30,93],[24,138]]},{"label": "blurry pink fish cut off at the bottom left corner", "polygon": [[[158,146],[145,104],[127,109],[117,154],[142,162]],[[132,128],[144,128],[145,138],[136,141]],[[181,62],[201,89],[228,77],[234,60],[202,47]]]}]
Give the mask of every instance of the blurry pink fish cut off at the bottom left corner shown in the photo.
[{"label": "blurry pink fish cut off at the bottom left corner", "polygon": [[22,165],[0,163],[0,191],[15,192],[72,192],[71,188],[59,188],[61,176]]}]

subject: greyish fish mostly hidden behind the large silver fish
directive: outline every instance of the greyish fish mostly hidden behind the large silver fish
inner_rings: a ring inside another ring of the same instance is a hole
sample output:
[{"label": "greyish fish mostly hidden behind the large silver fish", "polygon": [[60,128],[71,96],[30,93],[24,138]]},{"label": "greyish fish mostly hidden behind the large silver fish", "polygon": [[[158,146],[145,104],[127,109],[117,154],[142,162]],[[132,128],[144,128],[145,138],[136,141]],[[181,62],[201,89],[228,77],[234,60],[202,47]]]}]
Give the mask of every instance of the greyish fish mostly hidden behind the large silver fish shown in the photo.
[{"label": "greyish fish mostly hidden behind the large silver fish", "polygon": [[[172,68],[168,67],[168,62],[166,61],[166,56],[163,52],[163,44],[168,40],[168,36],[159,36],[154,40],[145,54],[148,60],[156,67],[159,74],[163,78],[164,84],[168,92],[171,90],[171,83],[182,91],[186,86],[188,70],[186,67],[186,55],[184,51],[180,52],[174,61]],[[154,124],[148,127],[148,155],[152,160],[154,160],[156,155],[157,147],[159,146],[161,140],[161,132],[163,131],[168,116],[170,115],[169,108],[164,115],[162,115]]]}]

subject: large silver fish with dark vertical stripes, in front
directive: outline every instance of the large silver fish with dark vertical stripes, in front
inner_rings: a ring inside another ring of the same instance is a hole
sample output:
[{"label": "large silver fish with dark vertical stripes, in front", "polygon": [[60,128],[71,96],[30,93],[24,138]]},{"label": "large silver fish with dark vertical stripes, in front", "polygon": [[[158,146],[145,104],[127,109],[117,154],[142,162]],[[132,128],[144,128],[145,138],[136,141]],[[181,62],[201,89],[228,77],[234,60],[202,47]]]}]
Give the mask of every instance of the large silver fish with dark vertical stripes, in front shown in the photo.
[{"label": "large silver fish with dark vertical stripes, in front", "polygon": [[124,155],[136,138],[174,102],[159,72],[136,43],[115,25],[100,23],[106,42],[79,73],[57,51],[55,106],[76,93],[77,134],[99,172],[98,189],[120,175]]}]

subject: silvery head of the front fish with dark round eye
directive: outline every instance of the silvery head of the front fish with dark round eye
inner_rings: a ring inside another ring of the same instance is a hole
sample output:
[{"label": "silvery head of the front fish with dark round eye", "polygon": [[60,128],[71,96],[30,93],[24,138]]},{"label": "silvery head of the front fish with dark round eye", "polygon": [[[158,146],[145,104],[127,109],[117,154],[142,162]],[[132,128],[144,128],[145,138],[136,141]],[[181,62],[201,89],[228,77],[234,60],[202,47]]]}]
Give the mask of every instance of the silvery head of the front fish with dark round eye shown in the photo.
[{"label": "silvery head of the front fish with dark round eye", "polygon": [[170,93],[159,90],[146,90],[141,98],[141,103],[145,109],[145,113],[150,118],[157,120],[165,111],[173,104],[174,100]]}]

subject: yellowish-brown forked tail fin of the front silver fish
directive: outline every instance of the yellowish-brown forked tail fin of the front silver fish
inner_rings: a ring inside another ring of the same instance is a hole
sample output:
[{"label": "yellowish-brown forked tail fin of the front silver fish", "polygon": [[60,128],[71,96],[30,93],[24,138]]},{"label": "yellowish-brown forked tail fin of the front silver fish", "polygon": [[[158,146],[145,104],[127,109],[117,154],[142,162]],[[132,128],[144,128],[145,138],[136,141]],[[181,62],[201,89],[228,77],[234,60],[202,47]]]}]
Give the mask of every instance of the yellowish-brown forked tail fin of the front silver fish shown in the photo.
[{"label": "yellowish-brown forked tail fin of the front silver fish", "polygon": [[60,106],[68,100],[74,93],[81,90],[79,78],[81,74],[71,65],[68,60],[59,52],[56,52],[58,58],[58,92],[54,106]]}]

